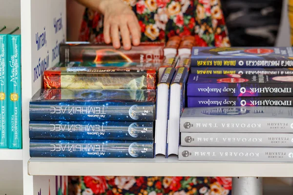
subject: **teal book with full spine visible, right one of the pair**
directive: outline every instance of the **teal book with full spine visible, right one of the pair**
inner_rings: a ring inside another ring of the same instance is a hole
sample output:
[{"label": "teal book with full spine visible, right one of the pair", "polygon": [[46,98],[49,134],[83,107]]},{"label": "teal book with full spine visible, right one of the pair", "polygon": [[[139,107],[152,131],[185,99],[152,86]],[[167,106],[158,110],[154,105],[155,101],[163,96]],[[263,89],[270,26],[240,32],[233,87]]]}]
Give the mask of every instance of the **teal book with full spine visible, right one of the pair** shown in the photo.
[{"label": "teal book with full spine visible, right one of the pair", "polygon": [[8,148],[22,148],[21,35],[8,35]]}]

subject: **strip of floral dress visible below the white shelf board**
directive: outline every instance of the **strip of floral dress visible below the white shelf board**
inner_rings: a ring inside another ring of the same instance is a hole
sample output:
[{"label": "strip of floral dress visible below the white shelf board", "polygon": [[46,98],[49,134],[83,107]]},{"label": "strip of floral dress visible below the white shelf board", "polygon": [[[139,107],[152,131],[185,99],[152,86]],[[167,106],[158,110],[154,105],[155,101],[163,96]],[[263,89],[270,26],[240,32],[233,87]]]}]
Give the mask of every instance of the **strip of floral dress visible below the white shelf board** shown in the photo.
[{"label": "strip of floral dress visible below the white shelf board", "polygon": [[231,195],[231,177],[70,176],[69,195]]}]

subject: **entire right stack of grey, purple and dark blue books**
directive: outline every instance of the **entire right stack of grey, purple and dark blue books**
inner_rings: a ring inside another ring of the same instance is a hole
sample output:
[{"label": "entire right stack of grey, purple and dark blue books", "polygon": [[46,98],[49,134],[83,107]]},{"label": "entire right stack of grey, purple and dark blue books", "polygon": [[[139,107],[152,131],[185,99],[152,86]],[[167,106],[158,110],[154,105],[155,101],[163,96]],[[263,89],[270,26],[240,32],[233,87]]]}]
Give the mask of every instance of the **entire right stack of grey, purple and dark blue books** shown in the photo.
[{"label": "entire right stack of grey, purple and dark blue books", "polygon": [[291,54],[193,48],[191,66],[211,68],[191,68],[179,160],[293,162]]}]

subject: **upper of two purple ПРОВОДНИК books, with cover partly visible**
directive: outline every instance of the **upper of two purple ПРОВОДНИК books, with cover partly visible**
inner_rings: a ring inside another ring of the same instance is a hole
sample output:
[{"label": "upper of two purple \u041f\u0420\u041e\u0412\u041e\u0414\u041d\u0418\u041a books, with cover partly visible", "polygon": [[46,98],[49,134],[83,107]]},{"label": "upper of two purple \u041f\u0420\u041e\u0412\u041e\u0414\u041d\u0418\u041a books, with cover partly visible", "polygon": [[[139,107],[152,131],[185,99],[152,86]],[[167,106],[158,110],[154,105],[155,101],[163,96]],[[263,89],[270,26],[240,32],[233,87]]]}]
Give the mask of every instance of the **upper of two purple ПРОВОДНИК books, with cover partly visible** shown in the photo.
[{"label": "upper of two purple \u041f\u0420\u041e\u0412\u041e\u0414\u041d\u0418\u041a books, with cover partly visible", "polygon": [[292,88],[292,75],[190,74],[187,82],[187,96],[293,96]]}]

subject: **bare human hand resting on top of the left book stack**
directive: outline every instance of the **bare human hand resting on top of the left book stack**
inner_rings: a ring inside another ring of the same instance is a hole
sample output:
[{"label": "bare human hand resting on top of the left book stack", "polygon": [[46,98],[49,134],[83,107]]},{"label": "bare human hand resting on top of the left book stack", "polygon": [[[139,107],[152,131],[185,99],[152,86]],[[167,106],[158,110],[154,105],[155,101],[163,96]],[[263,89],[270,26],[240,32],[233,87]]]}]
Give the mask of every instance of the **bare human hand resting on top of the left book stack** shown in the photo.
[{"label": "bare human hand resting on top of the left book stack", "polygon": [[[122,0],[101,0],[104,15],[104,40],[112,42],[115,49],[121,47],[120,36],[125,50],[140,44],[141,28],[135,13]],[[130,38],[131,36],[131,38]],[[132,39],[132,40],[131,40]]]}]

